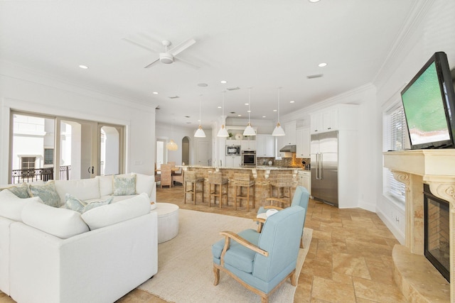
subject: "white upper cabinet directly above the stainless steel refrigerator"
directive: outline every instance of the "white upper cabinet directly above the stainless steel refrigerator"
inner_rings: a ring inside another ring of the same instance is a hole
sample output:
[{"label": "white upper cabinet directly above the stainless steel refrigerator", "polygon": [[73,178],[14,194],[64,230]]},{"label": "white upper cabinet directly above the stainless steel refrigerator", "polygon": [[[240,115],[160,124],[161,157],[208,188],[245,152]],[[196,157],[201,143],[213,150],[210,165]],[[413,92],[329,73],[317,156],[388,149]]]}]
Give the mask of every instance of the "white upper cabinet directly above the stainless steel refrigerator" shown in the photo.
[{"label": "white upper cabinet directly above the stainless steel refrigerator", "polygon": [[338,104],[312,113],[310,133],[357,129],[356,109],[354,104]]}]

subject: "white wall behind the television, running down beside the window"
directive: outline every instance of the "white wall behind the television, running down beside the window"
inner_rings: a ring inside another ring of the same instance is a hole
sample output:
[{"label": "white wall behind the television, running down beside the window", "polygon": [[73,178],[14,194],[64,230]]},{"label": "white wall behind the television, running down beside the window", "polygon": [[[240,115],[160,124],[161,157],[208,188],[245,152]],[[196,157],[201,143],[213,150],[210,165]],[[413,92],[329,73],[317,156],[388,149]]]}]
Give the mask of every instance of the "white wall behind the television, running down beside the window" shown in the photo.
[{"label": "white wall behind the television, running down beside the window", "polygon": [[[402,33],[397,40],[390,60],[378,74],[375,84],[378,87],[375,123],[382,123],[382,110],[394,101],[400,101],[400,91],[414,77],[433,53],[444,51],[449,58],[451,69],[455,68],[455,1],[428,1],[417,14],[418,18],[410,20],[412,30]],[[378,127],[375,144],[376,212],[390,228],[395,237],[405,241],[404,211],[397,204],[382,194],[382,128]],[[394,218],[392,219],[392,214]],[[396,221],[396,214],[402,217]]]}]

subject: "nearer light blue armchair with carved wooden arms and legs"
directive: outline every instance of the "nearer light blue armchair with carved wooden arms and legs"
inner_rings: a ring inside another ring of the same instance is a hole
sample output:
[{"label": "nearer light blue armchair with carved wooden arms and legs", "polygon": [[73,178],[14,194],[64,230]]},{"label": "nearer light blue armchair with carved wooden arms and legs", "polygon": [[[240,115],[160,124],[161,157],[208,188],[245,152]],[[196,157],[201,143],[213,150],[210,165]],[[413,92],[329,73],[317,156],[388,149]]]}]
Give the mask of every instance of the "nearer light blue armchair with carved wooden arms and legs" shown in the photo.
[{"label": "nearer light blue armchair with carved wooden arms and legs", "polygon": [[262,297],[262,303],[279,285],[291,279],[296,286],[296,260],[306,209],[291,206],[269,216],[262,232],[247,229],[240,233],[223,231],[225,236],[212,246],[214,285],[220,270]]}]

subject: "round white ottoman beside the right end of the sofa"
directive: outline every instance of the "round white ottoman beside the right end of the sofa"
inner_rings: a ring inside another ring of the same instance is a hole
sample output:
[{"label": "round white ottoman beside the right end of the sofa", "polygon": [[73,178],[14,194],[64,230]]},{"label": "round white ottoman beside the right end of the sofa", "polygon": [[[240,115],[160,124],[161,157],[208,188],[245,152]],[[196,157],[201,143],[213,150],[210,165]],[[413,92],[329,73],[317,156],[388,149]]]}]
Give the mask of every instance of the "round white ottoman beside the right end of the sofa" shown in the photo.
[{"label": "round white ottoman beside the right end of the sofa", "polygon": [[155,203],[152,211],[158,213],[158,243],[163,243],[178,235],[178,206],[171,203]]}]

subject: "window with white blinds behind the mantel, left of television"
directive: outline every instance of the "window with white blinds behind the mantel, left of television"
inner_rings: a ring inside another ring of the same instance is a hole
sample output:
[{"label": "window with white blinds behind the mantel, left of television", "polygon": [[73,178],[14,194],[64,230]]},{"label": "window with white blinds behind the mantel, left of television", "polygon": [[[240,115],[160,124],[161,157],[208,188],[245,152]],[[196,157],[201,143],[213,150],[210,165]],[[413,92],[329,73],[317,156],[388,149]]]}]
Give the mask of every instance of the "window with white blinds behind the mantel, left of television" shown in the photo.
[{"label": "window with white blinds behind the mantel, left of television", "polygon": [[[406,144],[407,128],[405,111],[401,104],[385,113],[385,147],[387,150],[403,150]],[[390,170],[385,172],[384,191],[405,203],[405,184],[398,182]]]}]

